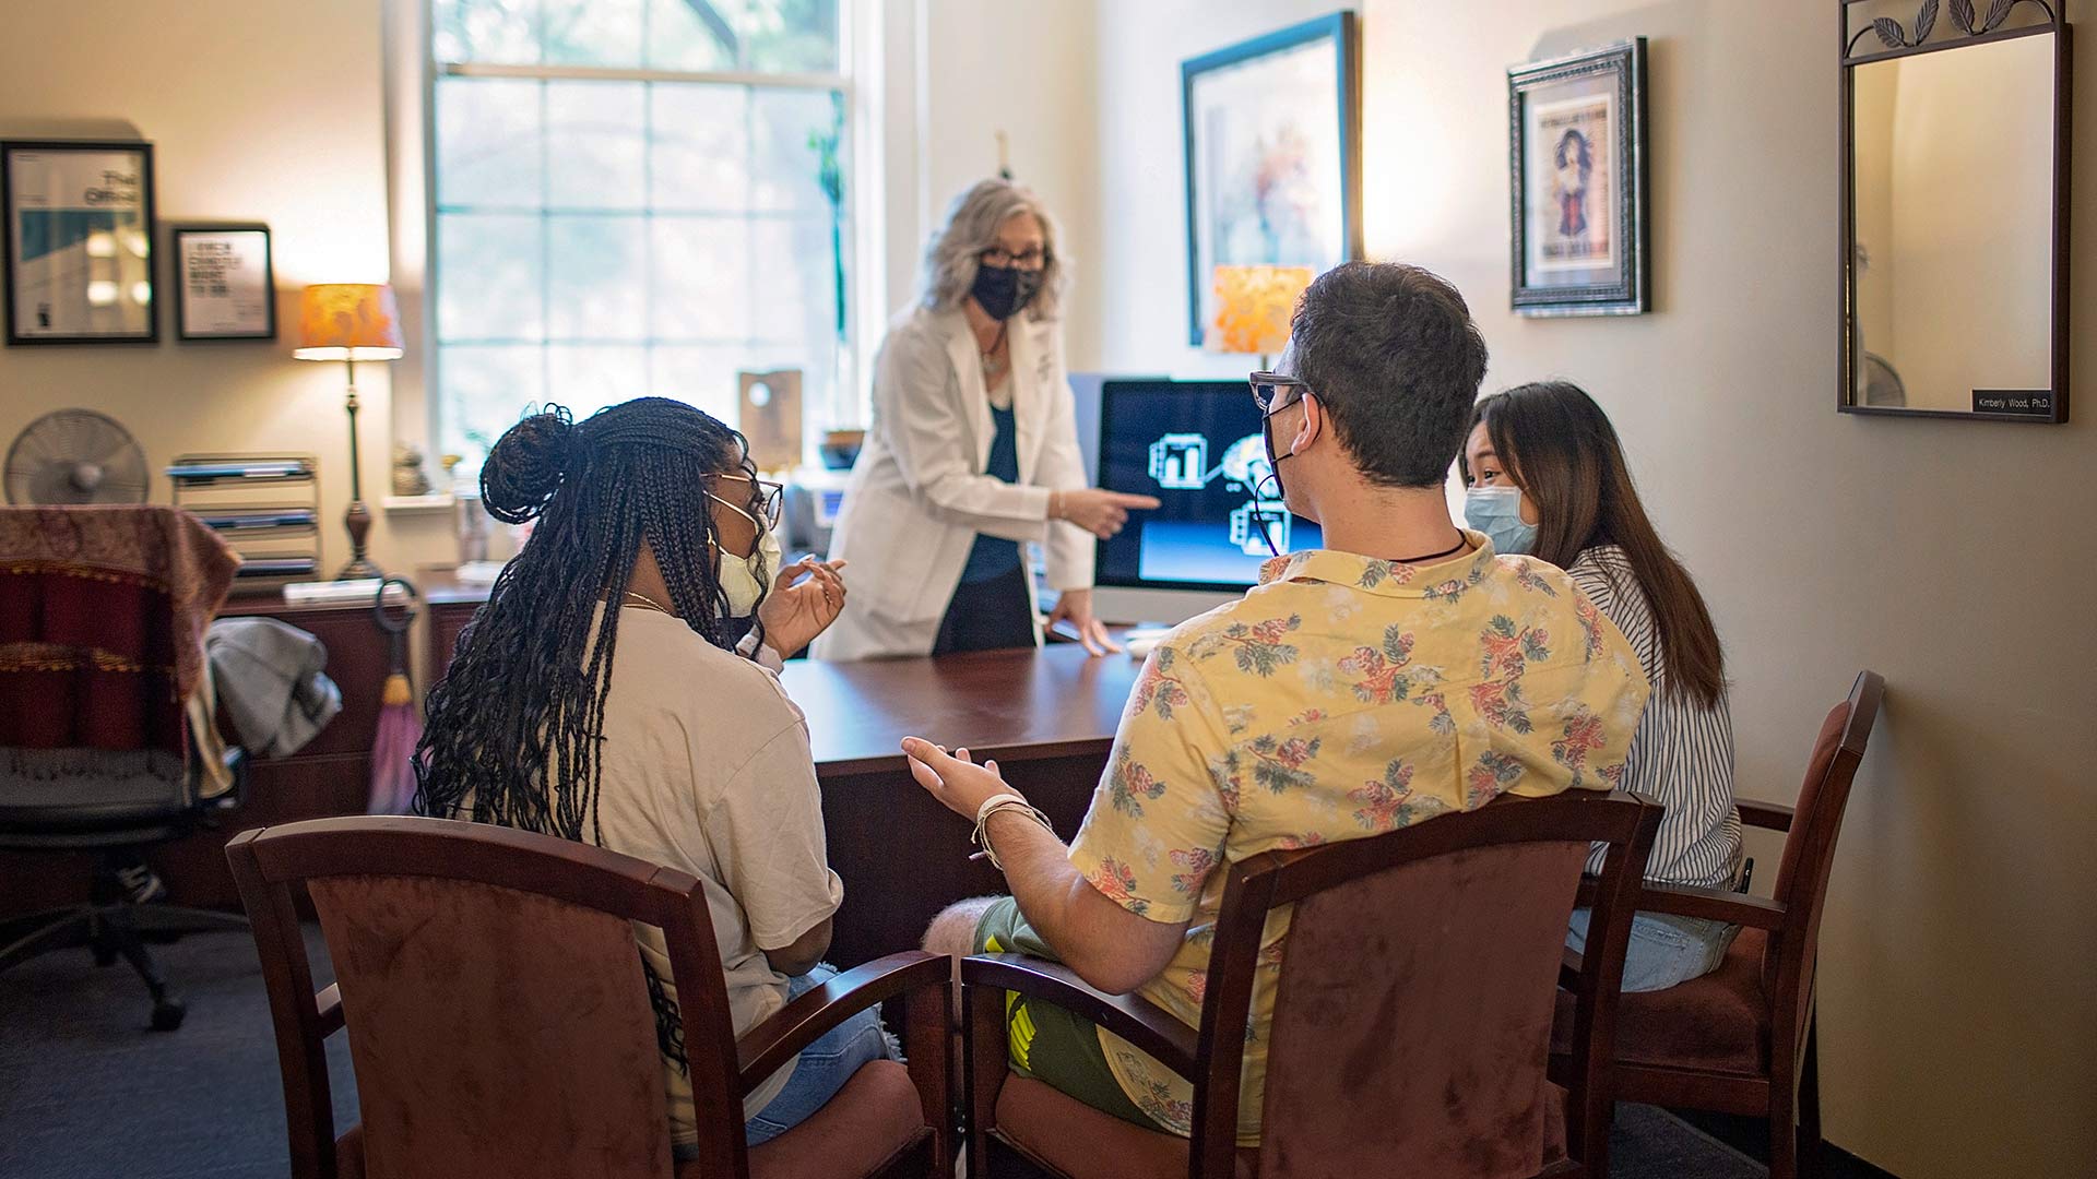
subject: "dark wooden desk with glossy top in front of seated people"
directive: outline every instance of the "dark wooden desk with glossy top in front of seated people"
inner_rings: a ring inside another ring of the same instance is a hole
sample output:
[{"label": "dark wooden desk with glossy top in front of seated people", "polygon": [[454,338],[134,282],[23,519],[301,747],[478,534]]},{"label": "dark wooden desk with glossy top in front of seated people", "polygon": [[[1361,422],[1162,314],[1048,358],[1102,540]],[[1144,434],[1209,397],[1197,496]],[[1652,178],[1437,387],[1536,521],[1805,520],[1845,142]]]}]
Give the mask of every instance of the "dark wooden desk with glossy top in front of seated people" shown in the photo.
[{"label": "dark wooden desk with glossy top in front of seated people", "polygon": [[969,860],[969,820],[918,787],[898,743],[925,736],[996,757],[1004,778],[1078,833],[1107,764],[1141,663],[1088,659],[1078,644],[1040,650],[786,665],[786,694],[807,713],[822,783],[830,866],[845,881],[830,961],[851,967],[925,936],[939,908],[1004,892]]}]

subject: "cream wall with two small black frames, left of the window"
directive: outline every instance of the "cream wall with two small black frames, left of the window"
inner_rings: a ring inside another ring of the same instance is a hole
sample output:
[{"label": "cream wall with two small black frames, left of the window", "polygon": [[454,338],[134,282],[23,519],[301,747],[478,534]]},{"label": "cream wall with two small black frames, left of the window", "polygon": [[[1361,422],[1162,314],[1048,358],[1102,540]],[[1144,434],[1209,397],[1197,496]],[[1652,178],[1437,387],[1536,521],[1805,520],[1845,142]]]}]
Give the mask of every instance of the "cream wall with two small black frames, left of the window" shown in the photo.
[{"label": "cream wall with two small black frames, left of the window", "polygon": [[[157,472],[187,451],[302,451],[321,459],[323,562],[348,558],[348,424],[342,365],[291,359],[298,290],[386,281],[386,147],[380,120],[380,0],[283,4],[153,0],[8,4],[0,34],[0,136],[138,136],[155,145],[161,227],[271,224],[277,342],[182,344],[172,306],[161,342],[0,348],[0,445],[63,407],[113,415]],[[157,290],[174,298],[166,233]],[[359,371],[363,491],[390,491],[386,365]],[[375,556],[392,566],[451,552],[442,522],[386,518]]]}]

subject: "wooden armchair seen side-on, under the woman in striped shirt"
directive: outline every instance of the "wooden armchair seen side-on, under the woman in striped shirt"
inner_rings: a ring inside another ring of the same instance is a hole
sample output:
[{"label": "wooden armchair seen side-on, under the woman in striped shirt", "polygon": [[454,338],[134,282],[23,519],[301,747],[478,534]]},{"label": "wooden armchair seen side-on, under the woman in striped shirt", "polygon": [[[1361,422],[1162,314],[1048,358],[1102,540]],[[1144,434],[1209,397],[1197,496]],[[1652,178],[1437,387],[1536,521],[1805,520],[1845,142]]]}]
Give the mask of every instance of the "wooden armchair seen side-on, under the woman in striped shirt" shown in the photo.
[{"label": "wooden armchair seen side-on, under the woman in striped shirt", "polygon": [[[1646,885],[1638,894],[1638,908],[1646,913],[1730,921],[1741,925],[1741,936],[1715,971],[1623,996],[1613,1070],[1617,1097],[1768,1118],[1770,1179],[1818,1173],[1814,969],[1820,913],[1850,783],[1883,696],[1885,680],[1862,671],[1850,699],[1829,709],[1806,764],[1797,810],[1738,803],[1747,824],[1789,833],[1770,900],[1684,885]],[[1573,1043],[1571,1011],[1571,996],[1560,996],[1558,1049]],[[1571,1057],[1560,1055],[1554,1072],[1558,1066],[1571,1066]]]}]

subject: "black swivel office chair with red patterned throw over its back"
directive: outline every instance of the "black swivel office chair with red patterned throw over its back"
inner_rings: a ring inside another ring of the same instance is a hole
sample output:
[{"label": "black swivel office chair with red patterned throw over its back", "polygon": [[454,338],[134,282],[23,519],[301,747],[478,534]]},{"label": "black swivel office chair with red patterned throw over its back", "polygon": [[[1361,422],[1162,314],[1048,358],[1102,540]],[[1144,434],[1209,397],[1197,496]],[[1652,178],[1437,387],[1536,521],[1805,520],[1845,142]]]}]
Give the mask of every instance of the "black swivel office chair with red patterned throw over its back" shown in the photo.
[{"label": "black swivel office chair with red patterned throw over its back", "polygon": [[243,795],[245,755],[214,734],[203,659],[235,564],[174,508],[0,508],[0,848],[101,854],[88,902],[10,923],[27,934],[0,946],[0,971],[86,942],[96,963],[138,971],[155,1030],[185,1009],[143,927],[245,925],[153,904],[166,887],[145,866],[147,848]]}]

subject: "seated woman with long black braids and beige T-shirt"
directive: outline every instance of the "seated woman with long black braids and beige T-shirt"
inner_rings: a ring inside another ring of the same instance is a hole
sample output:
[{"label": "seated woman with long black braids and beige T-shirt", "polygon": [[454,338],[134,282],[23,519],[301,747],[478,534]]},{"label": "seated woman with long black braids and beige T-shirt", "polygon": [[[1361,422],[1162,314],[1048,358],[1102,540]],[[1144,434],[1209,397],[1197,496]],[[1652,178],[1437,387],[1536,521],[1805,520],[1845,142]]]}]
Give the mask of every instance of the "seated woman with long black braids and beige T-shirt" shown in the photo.
[{"label": "seated woman with long black braids and beige T-shirt", "polygon": [[[818,959],[843,885],[807,724],[774,669],[837,619],[843,579],[805,560],[772,587],[778,487],[740,434],[675,401],[585,422],[547,407],[495,445],[480,495],[497,520],[537,524],[430,688],[417,808],[696,875],[736,1032],[755,1026],[835,973]],[[684,1156],[698,1139],[677,990],[663,936],[635,938]],[[824,1036],[749,1095],[749,1143],[881,1055],[872,1013]]]}]

